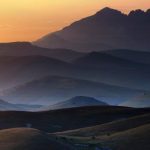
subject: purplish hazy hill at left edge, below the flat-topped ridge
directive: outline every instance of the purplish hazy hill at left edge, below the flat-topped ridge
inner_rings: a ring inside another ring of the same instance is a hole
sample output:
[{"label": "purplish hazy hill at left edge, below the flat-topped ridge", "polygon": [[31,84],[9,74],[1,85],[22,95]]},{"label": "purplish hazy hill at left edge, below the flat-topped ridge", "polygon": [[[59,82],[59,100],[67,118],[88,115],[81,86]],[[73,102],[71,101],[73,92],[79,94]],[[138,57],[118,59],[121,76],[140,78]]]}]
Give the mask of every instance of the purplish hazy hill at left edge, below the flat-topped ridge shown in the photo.
[{"label": "purplish hazy hill at left edge, below the flat-topped ridge", "polygon": [[74,66],[45,56],[0,57],[0,89],[14,87],[47,75],[71,74]]}]

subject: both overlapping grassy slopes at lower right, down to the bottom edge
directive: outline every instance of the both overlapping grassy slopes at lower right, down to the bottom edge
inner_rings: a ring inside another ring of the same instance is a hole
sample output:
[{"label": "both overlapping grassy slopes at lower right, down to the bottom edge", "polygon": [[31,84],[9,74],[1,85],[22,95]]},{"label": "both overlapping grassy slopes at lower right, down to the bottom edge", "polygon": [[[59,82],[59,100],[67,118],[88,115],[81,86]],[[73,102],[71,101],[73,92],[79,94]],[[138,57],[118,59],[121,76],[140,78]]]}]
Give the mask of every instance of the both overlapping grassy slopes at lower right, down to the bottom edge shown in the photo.
[{"label": "both overlapping grassy slopes at lower right, down to the bottom edge", "polygon": [[149,150],[150,114],[54,135],[87,150],[91,147],[100,150]]}]

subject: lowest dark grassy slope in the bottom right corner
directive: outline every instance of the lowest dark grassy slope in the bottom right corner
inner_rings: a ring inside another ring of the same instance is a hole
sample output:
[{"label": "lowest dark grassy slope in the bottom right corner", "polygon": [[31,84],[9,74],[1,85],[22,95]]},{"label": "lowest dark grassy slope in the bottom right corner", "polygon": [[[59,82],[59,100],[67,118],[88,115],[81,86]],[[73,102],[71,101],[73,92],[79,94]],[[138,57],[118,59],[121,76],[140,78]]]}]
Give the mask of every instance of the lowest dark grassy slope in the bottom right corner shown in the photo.
[{"label": "lowest dark grassy slope in the bottom right corner", "polygon": [[105,145],[114,150],[149,150],[150,124],[105,137]]}]

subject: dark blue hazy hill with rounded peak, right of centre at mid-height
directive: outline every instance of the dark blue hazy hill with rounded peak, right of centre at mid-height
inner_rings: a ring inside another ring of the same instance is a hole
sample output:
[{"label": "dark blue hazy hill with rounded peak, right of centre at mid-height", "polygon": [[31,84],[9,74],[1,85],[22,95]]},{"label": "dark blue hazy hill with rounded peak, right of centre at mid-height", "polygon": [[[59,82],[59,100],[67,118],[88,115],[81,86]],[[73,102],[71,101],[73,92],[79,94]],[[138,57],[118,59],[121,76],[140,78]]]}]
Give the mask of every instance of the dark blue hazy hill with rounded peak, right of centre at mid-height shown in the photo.
[{"label": "dark blue hazy hill with rounded peak, right of centre at mid-height", "polygon": [[[149,90],[150,65],[134,62],[110,54],[91,52],[73,61],[91,71],[89,79],[107,84]],[[92,76],[94,75],[94,76]]]}]

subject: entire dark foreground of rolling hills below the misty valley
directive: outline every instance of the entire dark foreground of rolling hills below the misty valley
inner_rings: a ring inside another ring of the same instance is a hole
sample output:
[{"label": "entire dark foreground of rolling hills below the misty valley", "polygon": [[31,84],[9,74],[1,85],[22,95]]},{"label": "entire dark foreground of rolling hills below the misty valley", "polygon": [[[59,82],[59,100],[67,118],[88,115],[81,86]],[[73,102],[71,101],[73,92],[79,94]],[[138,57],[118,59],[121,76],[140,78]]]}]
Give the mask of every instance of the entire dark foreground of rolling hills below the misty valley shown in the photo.
[{"label": "entire dark foreground of rolling hills below the misty valley", "polygon": [[[2,150],[149,150],[150,108],[0,112]],[[136,144],[135,144],[136,143]]]}]

